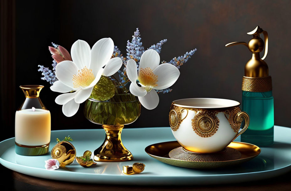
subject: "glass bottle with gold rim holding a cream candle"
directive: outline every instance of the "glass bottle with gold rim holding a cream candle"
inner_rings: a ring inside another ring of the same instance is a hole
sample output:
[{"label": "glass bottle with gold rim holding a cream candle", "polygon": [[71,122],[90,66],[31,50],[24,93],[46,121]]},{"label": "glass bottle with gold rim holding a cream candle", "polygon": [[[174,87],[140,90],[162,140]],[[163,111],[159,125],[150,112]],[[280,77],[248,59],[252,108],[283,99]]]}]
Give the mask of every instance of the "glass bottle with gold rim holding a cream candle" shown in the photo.
[{"label": "glass bottle with gold rim holding a cream candle", "polygon": [[15,152],[24,156],[49,152],[50,111],[40,100],[43,85],[22,85],[25,101],[15,113]]}]

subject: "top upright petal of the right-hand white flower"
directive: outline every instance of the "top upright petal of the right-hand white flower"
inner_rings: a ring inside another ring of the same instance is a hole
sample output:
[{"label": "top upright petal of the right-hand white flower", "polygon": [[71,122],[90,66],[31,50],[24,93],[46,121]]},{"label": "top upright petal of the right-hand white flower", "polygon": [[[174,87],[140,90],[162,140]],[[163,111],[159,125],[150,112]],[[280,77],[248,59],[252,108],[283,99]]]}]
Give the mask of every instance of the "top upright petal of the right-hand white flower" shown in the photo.
[{"label": "top upright petal of the right-hand white flower", "polygon": [[146,50],[140,57],[140,66],[139,68],[151,68],[152,70],[156,69],[160,64],[160,55],[153,49]]}]

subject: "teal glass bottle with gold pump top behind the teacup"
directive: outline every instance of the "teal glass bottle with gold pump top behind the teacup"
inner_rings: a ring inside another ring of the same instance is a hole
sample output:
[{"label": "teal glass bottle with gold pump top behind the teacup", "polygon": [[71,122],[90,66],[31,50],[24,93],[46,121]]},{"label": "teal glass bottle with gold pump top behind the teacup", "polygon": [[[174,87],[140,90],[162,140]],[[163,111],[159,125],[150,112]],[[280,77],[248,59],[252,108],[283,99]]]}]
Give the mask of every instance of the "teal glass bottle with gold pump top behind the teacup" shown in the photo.
[{"label": "teal glass bottle with gold pump top behind the teacup", "polygon": [[[246,42],[231,42],[226,47],[238,44],[245,45],[252,52],[251,59],[246,63],[245,76],[242,78],[242,110],[250,116],[248,129],[241,135],[241,141],[258,146],[269,146],[274,142],[274,98],[272,96],[272,78],[264,59],[268,52],[268,33],[257,26],[247,33],[253,38]],[[260,58],[260,52],[265,54]]]}]

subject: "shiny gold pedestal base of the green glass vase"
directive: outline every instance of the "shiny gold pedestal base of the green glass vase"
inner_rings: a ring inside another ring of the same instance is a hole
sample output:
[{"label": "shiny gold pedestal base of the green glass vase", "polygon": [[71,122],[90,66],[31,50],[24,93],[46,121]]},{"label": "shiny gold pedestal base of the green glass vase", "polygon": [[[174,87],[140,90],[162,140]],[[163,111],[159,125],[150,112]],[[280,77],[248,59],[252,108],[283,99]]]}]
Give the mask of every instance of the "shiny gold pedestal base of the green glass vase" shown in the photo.
[{"label": "shiny gold pedestal base of the green glass vase", "polygon": [[114,162],[131,161],[133,156],[121,141],[124,125],[102,125],[106,132],[103,144],[94,151],[94,161]]}]

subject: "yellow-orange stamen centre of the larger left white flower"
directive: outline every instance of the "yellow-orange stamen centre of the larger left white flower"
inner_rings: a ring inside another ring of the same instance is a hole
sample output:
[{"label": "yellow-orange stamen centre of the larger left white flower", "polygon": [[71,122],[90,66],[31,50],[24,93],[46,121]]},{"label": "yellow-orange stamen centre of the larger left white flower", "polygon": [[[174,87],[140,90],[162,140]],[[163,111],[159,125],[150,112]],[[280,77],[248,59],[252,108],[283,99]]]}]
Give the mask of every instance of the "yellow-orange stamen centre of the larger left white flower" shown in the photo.
[{"label": "yellow-orange stamen centre of the larger left white flower", "polygon": [[89,86],[95,77],[92,72],[92,69],[88,69],[86,66],[80,71],[78,70],[78,74],[73,75],[73,85],[74,88],[81,88]]}]

